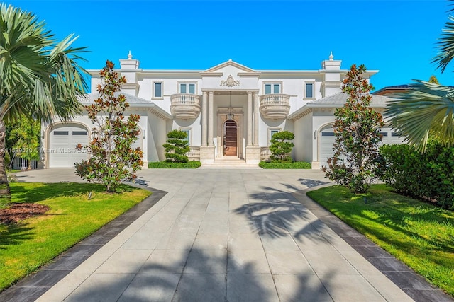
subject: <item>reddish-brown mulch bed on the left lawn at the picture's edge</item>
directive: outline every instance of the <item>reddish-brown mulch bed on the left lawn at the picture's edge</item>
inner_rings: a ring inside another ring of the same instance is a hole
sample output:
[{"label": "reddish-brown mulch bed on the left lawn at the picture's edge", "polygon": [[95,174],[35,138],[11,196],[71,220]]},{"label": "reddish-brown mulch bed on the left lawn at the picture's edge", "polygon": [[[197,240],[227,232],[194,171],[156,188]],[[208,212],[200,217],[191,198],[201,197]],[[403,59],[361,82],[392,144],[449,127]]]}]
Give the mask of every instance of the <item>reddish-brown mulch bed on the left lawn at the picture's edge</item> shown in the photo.
[{"label": "reddish-brown mulch bed on the left lawn at the picture's edge", "polygon": [[44,204],[11,204],[11,206],[0,209],[0,223],[17,223],[23,219],[44,214],[50,207]]}]

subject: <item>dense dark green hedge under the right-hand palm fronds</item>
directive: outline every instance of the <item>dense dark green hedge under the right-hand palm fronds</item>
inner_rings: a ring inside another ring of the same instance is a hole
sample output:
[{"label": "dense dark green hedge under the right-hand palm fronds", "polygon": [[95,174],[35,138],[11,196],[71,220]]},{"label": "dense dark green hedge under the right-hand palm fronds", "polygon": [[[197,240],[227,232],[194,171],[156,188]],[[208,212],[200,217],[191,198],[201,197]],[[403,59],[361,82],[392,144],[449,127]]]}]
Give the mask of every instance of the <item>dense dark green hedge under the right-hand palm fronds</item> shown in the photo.
[{"label": "dense dark green hedge under the right-hand palm fronds", "polygon": [[401,194],[454,206],[454,147],[429,141],[425,153],[414,146],[380,147],[380,179]]}]

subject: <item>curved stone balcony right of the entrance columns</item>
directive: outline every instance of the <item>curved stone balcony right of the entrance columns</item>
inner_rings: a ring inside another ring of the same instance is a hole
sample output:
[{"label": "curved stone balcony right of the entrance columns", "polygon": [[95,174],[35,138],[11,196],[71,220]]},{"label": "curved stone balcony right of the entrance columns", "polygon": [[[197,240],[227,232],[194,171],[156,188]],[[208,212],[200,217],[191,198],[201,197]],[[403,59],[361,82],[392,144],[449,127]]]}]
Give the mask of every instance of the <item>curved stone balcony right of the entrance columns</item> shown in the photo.
[{"label": "curved stone balcony right of the entrance columns", "polygon": [[265,94],[260,96],[260,112],[263,117],[272,120],[284,119],[289,115],[290,95]]}]

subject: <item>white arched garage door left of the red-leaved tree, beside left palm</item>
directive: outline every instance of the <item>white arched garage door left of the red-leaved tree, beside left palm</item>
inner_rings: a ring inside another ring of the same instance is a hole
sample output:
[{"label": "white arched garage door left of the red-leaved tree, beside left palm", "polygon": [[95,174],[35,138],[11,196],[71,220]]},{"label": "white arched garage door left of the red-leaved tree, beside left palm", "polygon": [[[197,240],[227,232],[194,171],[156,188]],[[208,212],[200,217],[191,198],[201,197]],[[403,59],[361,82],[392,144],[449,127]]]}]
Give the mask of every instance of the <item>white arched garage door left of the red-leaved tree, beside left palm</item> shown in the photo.
[{"label": "white arched garage door left of the red-leaved tree, beside left palm", "polygon": [[72,168],[74,163],[88,159],[89,155],[76,150],[76,146],[89,144],[87,129],[77,126],[65,126],[53,129],[49,137],[49,167]]}]

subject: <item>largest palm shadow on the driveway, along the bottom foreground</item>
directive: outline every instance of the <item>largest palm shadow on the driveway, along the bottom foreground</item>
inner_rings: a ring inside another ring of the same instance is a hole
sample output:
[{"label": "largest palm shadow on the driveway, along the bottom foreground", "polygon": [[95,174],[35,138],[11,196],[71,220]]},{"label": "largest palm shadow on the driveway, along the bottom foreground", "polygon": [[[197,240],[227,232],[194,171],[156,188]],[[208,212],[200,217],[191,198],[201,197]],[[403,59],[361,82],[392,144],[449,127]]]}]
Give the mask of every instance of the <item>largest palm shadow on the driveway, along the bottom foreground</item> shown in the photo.
[{"label": "largest palm shadow on the driveway, along the bottom foreground", "polygon": [[[118,274],[74,291],[74,301],[270,301],[251,262],[238,264],[227,250],[160,250],[137,274]],[[160,255],[159,257],[155,257]],[[167,264],[165,264],[167,263]],[[96,277],[96,274],[94,274]],[[89,282],[87,282],[89,283]]]}]

